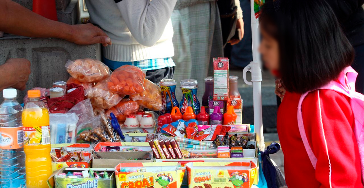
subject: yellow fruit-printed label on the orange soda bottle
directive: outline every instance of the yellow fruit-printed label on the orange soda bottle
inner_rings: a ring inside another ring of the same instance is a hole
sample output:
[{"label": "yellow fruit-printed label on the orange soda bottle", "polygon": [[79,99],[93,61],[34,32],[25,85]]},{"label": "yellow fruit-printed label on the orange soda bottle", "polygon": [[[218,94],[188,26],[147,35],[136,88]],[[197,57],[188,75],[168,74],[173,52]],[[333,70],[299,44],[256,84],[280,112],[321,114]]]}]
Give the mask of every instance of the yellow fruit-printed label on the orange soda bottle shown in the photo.
[{"label": "yellow fruit-printed label on the orange soda bottle", "polygon": [[25,145],[46,145],[51,143],[49,125],[23,127]]}]

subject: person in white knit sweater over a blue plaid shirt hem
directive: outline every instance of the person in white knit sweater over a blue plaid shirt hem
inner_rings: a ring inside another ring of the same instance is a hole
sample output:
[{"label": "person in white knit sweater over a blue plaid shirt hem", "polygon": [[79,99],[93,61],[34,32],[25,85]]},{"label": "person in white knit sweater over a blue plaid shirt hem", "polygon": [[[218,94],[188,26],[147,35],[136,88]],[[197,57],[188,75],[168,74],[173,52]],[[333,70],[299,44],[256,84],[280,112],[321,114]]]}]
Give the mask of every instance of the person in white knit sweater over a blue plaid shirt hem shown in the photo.
[{"label": "person in white knit sweater over a blue plaid shirt hem", "polygon": [[110,36],[102,61],[115,70],[135,65],[154,83],[174,72],[173,28],[170,20],[176,0],[87,0],[91,23]]}]

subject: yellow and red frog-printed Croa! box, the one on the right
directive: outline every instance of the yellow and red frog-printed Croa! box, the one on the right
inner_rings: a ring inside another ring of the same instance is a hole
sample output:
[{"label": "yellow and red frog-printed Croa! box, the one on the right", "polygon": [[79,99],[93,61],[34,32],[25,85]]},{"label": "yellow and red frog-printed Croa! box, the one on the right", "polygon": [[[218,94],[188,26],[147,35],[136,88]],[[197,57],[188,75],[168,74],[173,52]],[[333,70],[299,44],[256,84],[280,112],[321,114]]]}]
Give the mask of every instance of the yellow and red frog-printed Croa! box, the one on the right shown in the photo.
[{"label": "yellow and red frog-printed Croa! box, the one on the right", "polygon": [[186,164],[189,187],[250,188],[258,173],[253,162],[193,162]]}]

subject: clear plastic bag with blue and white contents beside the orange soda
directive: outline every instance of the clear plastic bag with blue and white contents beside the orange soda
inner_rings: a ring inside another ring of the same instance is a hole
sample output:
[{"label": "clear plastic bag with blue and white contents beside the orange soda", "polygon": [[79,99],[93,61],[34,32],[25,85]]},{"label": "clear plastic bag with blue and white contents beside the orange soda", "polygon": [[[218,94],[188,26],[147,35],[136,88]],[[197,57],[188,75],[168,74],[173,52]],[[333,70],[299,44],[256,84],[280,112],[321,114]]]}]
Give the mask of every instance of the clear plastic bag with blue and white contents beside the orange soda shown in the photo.
[{"label": "clear plastic bag with blue and white contents beside the orange soda", "polygon": [[50,113],[51,144],[76,143],[76,113]]}]

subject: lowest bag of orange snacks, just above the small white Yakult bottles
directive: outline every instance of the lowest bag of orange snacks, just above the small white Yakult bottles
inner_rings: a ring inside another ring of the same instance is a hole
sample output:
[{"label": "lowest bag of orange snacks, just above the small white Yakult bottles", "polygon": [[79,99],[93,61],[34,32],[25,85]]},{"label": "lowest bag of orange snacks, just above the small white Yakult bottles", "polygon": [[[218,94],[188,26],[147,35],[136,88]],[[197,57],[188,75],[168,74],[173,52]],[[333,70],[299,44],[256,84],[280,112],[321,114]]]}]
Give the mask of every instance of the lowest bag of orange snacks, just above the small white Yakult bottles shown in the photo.
[{"label": "lowest bag of orange snacks, just above the small white Yakult bottles", "polygon": [[130,99],[123,99],[116,106],[108,109],[106,115],[110,117],[110,113],[118,118],[118,121],[124,122],[127,115],[133,115],[139,110],[139,103]]}]

